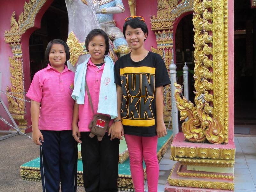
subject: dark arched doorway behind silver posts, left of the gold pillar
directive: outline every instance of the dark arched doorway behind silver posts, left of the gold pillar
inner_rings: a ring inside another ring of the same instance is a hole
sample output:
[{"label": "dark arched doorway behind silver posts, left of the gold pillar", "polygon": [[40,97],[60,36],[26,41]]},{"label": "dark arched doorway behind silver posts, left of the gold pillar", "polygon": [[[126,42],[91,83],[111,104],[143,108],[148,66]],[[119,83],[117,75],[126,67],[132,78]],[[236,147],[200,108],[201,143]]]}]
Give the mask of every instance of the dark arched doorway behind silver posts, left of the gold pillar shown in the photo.
[{"label": "dark arched doorway behind silver posts, left of the gold pillar", "polygon": [[183,84],[183,70],[184,64],[188,66],[188,93],[189,100],[194,103],[195,99],[195,80],[194,80],[194,31],[193,31],[193,14],[183,17],[176,29],[175,33],[175,64],[177,66],[177,83]]}]

